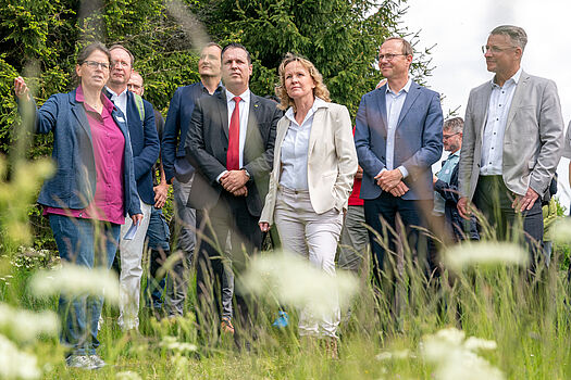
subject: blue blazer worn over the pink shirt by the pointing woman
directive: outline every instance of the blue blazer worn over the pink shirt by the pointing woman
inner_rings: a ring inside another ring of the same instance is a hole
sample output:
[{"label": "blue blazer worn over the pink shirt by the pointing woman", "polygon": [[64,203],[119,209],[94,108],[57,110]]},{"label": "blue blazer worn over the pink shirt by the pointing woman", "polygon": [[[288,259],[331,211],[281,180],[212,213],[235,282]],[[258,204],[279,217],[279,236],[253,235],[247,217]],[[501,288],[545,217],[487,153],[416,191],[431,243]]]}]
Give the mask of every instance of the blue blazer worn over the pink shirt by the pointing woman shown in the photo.
[{"label": "blue blazer worn over the pink shirt by the pointing woman", "polygon": [[[53,177],[41,188],[38,203],[60,208],[83,210],[96,193],[97,174],[91,128],[83,103],[75,90],[51,96],[35,113],[35,132],[53,132],[52,157],[57,164]],[[123,113],[115,106],[111,113],[125,137],[123,153],[123,208],[125,216],[140,214],[139,197],[133,169],[129,132]]]}]

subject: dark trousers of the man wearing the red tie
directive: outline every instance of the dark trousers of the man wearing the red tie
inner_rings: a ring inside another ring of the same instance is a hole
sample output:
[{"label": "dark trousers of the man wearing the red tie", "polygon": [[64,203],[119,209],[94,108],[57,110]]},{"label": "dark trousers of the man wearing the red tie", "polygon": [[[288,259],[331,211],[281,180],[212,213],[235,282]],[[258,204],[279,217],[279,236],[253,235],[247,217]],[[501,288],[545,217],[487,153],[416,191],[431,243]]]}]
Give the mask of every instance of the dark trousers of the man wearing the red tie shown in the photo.
[{"label": "dark trousers of the man wearing the red tie", "polygon": [[[258,220],[259,216],[249,213],[244,197],[233,197],[226,192],[221,194],[218,204],[211,210],[197,211],[197,297],[198,320],[202,328],[218,326],[224,265],[232,264],[236,283],[234,314],[237,326],[251,329],[256,305],[244,291],[240,277],[247,267],[248,257],[261,250],[262,233]],[[224,249],[228,231],[232,250],[226,256]]]}]

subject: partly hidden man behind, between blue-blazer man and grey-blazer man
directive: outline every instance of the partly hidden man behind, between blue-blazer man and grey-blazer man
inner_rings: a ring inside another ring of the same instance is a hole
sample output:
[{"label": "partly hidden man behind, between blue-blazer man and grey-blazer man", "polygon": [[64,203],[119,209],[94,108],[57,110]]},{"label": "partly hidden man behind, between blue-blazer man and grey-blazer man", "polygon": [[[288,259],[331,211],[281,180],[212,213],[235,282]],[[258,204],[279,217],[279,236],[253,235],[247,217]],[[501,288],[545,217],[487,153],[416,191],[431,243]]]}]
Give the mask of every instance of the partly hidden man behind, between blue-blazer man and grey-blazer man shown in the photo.
[{"label": "partly hidden man behind, between blue-blazer man and grey-blazer man", "polygon": [[[461,117],[449,118],[444,122],[443,143],[444,150],[450,152],[443,161],[442,169],[433,176],[434,183],[434,223],[437,224],[436,231],[446,231],[446,238],[450,241],[464,239],[477,240],[475,219],[467,221],[458,214],[458,162],[460,161],[460,148],[462,147],[462,129],[464,121]],[[440,237],[442,238],[442,237]],[[435,250],[434,241],[432,241]]]}]

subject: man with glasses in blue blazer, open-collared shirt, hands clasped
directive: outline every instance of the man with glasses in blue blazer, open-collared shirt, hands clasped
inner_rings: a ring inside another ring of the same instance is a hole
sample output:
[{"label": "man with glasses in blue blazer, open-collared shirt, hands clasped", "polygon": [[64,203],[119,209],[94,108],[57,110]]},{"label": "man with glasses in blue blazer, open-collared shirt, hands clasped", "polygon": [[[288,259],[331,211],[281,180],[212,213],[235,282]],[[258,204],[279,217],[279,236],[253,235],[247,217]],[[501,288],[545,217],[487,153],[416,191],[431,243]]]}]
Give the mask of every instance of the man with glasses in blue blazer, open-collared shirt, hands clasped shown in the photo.
[{"label": "man with glasses in blue blazer, open-collared shirt, hands clasped", "polygon": [[365,93],[357,112],[355,143],[363,168],[360,197],[367,224],[384,240],[369,232],[378,281],[382,271],[389,279],[394,275],[395,259],[386,262],[385,248],[395,255],[397,213],[406,226],[410,249],[422,264],[432,264],[425,255],[425,238],[414,226],[426,227],[432,211],[431,165],[443,151],[443,113],[438,93],[410,79],[411,62],[408,41],[399,37],[385,40],[378,66],[387,84]]}]

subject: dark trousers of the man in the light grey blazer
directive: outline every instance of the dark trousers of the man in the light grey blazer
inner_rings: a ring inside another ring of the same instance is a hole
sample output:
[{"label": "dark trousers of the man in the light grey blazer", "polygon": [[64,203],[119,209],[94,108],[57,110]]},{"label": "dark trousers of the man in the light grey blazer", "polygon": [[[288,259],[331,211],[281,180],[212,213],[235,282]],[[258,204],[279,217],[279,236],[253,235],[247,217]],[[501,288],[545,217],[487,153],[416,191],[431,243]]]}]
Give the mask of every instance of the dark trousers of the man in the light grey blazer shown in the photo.
[{"label": "dark trousers of the man in the light grey blazer", "polygon": [[[474,205],[496,231],[498,240],[513,239],[523,229],[523,240],[532,255],[532,263],[535,263],[543,242],[542,200],[537,199],[531,210],[520,214],[511,207],[514,199],[516,194],[508,190],[501,176],[480,176],[477,179]],[[479,228],[482,230],[482,226]]]}]

